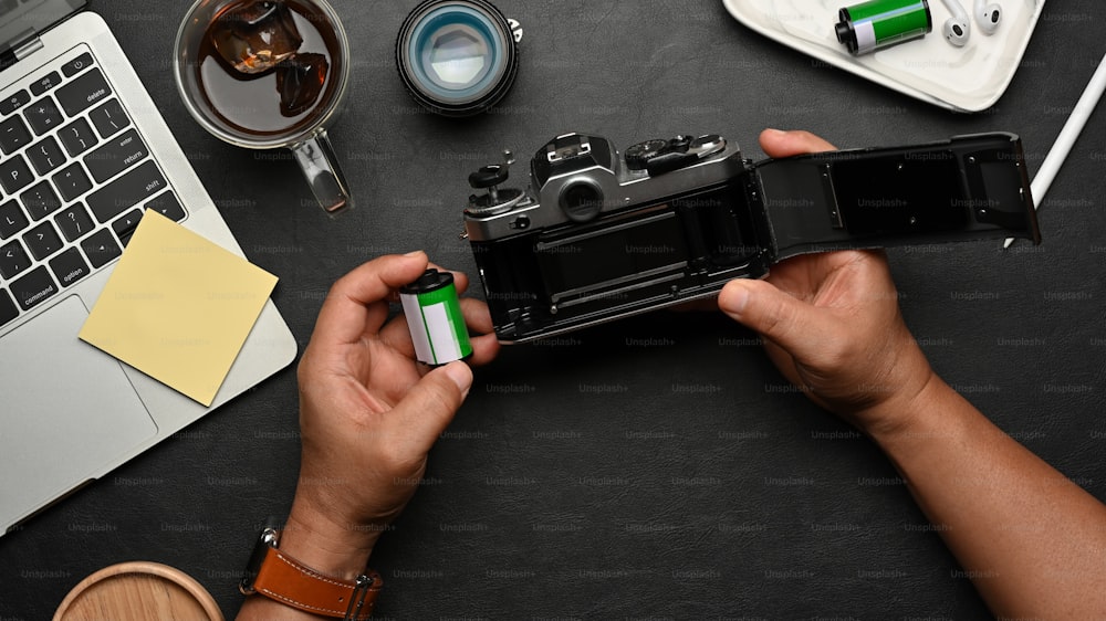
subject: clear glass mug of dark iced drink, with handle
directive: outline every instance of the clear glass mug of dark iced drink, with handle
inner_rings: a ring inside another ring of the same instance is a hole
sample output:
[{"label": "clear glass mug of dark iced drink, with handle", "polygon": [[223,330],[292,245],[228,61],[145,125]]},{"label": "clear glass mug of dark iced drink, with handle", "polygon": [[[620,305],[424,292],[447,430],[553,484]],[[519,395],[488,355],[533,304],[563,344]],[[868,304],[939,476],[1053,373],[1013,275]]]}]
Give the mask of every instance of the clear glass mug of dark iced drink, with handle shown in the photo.
[{"label": "clear glass mug of dark iced drink, with handle", "polygon": [[197,0],[174,44],[189,114],[250,149],[288,148],[320,207],[352,206],[326,136],[349,81],[349,42],[326,0]]}]

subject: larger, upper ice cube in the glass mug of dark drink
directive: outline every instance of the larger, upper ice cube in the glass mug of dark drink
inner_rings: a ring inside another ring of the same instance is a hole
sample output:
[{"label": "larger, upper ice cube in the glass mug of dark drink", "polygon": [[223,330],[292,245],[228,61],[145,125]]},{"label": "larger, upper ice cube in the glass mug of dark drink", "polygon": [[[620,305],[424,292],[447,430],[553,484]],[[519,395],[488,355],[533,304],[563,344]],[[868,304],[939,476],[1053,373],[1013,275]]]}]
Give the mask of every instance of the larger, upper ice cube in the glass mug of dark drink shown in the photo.
[{"label": "larger, upper ice cube in the glass mug of dark drink", "polygon": [[227,63],[242,73],[264,73],[288,60],[303,39],[292,11],[281,0],[246,0],[216,18],[211,43]]}]

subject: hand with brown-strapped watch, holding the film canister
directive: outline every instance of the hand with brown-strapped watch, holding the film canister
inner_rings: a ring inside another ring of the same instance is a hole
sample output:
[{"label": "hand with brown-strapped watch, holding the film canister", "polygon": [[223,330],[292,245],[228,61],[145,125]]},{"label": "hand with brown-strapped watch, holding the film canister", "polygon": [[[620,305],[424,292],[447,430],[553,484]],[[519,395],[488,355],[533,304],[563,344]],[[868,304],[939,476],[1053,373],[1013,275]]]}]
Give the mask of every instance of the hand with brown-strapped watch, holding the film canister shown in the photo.
[{"label": "hand with brown-strapped watch, holding the film canister", "polygon": [[[302,461],[281,548],[321,571],[364,569],[472,383],[459,361],[422,375],[404,317],[386,323],[397,290],[428,265],[421,252],[384,256],[338,280],[300,361]],[[453,275],[463,292],[468,278]],[[471,339],[472,364],[490,361],[499,344],[487,306],[462,299],[461,309],[484,335]]]}]

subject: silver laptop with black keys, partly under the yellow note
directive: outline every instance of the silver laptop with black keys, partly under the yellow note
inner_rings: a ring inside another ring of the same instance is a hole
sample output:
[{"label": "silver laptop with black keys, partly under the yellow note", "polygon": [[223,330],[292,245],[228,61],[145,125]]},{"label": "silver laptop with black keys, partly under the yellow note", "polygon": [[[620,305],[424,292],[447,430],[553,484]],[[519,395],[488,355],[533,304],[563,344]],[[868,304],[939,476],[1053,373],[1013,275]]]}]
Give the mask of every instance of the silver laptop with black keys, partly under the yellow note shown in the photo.
[{"label": "silver laptop with black keys, partly under the yellow note", "polygon": [[242,255],[86,0],[0,0],[0,535],[286,367],[268,301],[210,408],[77,339],[146,209]]}]

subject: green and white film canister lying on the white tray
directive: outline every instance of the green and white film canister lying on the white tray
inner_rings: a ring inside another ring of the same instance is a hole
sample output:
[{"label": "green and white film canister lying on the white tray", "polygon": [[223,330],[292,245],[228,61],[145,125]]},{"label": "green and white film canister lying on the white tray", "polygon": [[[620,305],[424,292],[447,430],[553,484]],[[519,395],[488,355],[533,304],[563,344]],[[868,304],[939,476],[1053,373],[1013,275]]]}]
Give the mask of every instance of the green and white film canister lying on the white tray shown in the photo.
[{"label": "green and white film canister lying on the white tray", "polygon": [[927,0],[872,0],[837,12],[837,41],[854,56],[920,39],[933,30]]}]

